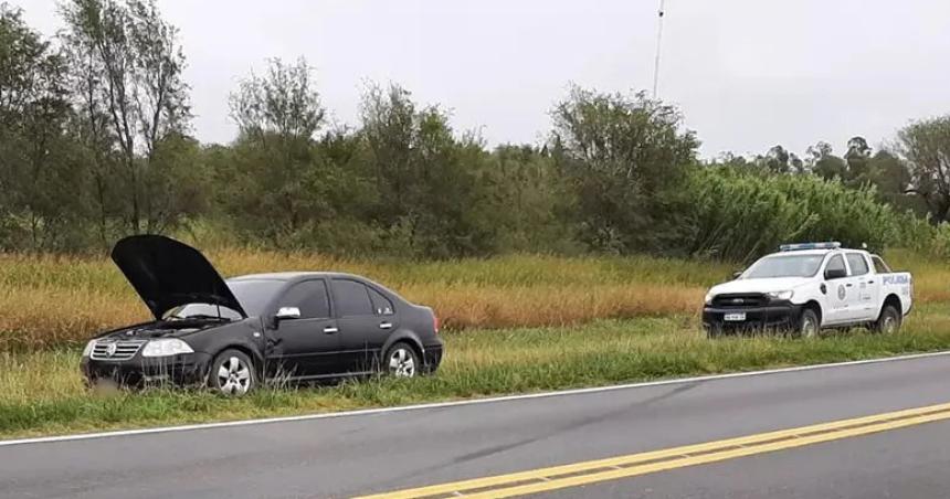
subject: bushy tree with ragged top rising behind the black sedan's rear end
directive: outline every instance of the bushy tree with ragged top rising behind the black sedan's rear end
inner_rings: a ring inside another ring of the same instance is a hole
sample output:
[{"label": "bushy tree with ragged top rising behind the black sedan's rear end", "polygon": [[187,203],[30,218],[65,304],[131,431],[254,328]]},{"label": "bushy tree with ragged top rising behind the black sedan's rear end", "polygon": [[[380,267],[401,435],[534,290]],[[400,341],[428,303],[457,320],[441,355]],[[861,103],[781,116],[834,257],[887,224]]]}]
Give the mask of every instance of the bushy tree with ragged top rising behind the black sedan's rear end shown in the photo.
[{"label": "bushy tree with ragged top rising behind the black sedan's rear end", "polygon": [[430,257],[484,254],[496,243],[487,201],[487,155],[474,135],[457,138],[437,106],[420,108],[399,85],[370,84],[360,137],[380,202],[374,222],[408,251]]}]

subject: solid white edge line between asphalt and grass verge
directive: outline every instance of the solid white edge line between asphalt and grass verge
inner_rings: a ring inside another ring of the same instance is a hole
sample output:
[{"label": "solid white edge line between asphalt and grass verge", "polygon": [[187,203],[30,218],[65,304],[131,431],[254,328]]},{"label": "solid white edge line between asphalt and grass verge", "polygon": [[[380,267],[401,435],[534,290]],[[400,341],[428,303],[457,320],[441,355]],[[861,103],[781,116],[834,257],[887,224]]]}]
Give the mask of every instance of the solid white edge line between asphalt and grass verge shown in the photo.
[{"label": "solid white edge line between asphalt and grass verge", "polygon": [[190,431],[196,431],[196,429],[228,428],[228,427],[232,427],[232,426],[250,426],[250,425],[258,425],[258,424],[289,423],[289,422],[310,421],[310,420],[330,420],[330,418],[335,418],[335,417],[368,416],[368,415],[373,415],[373,414],[397,413],[397,412],[404,412],[404,411],[424,411],[424,410],[430,410],[430,408],[457,407],[457,406],[464,406],[464,405],[490,404],[490,403],[496,403],[496,402],[520,401],[520,400],[530,400],[530,399],[545,399],[545,397],[564,396],[564,395],[581,395],[581,394],[585,394],[585,393],[611,392],[614,390],[630,390],[630,389],[641,389],[641,387],[647,387],[647,386],[663,386],[663,385],[669,385],[669,384],[695,383],[695,382],[701,382],[701,381],[728,380],[728,379],[732,379],[732,378],[750,378],[750,376],[760,376],[760,375],[768,375],[768,374],[782,374],[782,373],[789,373],[789,372],[815,371],[815,370],[820,370],[820,369],[846,368],[846,367],[854,367],[854,365],[876,364],[876,363],[884,363],[884,362],[897,362],[897,361],[927,359],[927,358],[931,358],[931,357],[943,357],[943,355],[950,355],[950,350],[938,351],[938,352],[928,352],[928,353],[914,353],[914,354],[909,354],[909,355],[854,360],[854,361],[847,361],[847,362],[834,362],[834,363],[827,363],[827,364],[796,365],[793,368],[769,369],[769,370],[763,370],[763,371],[731,372],[731,373],[726,373],[726,374],[711,374],[711,375],[693,376],[693,378],[676,378],[676,379],[669,379],[669,380],[647,381],[647,382],[627,383],[627,384],[615,384],[615,385],[595,386],[595,387],[589,387],[589,389],[573,389],[573,390],[562,390],[562,391],[555,391],[555,392],[528,393],[528,394],[522,394],[522,395],[505,395],[505,396],[473,399],[473,400],[452,401],[452,402],[435,402],[435,403],[429,403],[429,404],[401,405],[401,406],[395,406],[395,407],[363,408],[363,410],[357,410],[357,411],[341,411],[341,412],[335,412],[335,413],[304,414],[304,415],[299,415],[299,416],[265,417],[265,418],[258,418],[258,420],[226,421],[226,422],[220,422],[220,423],[198,423],[198,424],[180,425],[180,426],[160,426],[160,427],[155,427],[155,428],[120,429],[120,431],[115,431],[115,432],[80,433],[80,434],[74,434],[74,435],[20,438],[20,439],[14,439],[14,440],[0,440],[0,447],[12,446],[12,445],[27,445],[27,444],[46,444],[46,443],[55,443],[55,442],[86,440],[86,439],[96,439],[96,438],[131,436],[131,435],[148,435],[148,434],[155,434],[155,433],[172,433],[172,432],[190,432]]}]

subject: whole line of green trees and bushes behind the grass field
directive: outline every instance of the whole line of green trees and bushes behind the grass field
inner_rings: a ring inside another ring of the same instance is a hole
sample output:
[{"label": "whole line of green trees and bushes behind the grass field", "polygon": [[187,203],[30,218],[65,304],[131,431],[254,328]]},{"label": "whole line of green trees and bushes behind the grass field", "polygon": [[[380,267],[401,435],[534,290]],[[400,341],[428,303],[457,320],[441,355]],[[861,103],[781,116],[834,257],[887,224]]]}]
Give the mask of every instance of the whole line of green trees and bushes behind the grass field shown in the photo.
[{"label": "whole line of green trees and bushes behind the grass field", "polygon": [[275,59],[230,95],[238,136],[201,144],[178,30],[155,0],[65,0],[60,15],[44,38],[0,4],[0,251],[182,232],[434,258],[950,241],[950,116],[877,151],[855,137],[842,156],[819,142],[700,160],[674,106],[571,87],[542,144],[488,148],[397,84],[367,84],[359,123],[331,125],[314,68]]}]

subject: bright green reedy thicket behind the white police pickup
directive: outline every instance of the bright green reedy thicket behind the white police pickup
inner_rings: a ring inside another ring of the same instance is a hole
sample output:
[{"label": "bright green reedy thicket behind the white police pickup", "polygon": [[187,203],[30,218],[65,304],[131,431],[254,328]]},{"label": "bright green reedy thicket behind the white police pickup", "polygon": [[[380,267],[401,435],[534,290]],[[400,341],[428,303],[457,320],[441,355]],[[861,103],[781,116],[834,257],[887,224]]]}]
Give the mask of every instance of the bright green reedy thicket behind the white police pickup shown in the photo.
[{"label": "bright green reedy thicket behind the white police pickup", "polygon": [[690,227],[683,247],[696,256],[749,261],[805,241],[880,251],[897,237],[899,216],[877,201],[873,187],[707,167],[690,173],[687,190]]}]

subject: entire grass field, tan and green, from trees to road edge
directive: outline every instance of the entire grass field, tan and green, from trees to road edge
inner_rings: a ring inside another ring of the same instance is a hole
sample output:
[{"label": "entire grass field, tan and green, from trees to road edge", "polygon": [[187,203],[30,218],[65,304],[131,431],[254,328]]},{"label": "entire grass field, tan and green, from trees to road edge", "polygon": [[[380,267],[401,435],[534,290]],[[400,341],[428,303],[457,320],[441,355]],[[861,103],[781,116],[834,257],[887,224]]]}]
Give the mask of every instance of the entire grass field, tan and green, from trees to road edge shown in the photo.
[{"label": "entire grass field, tan and green, from trees to road edge", "polygon": [[855,330],[805,341],[707,340],[708,286],[736,266],[653,257],[515,255],[415,263],[244,250],[210,252],[225,275],[282,269],[366,275],[442,319],[434,376],[323,387],[264,387],[229,400],[204,391],[88,392],[80,348],[97,331],[148,319],[107,258],[0,256],[0,435],[218,421],[590,386],[864,359],[950,348],[950,263],[885,255],[915,276],[900,333]]}]

